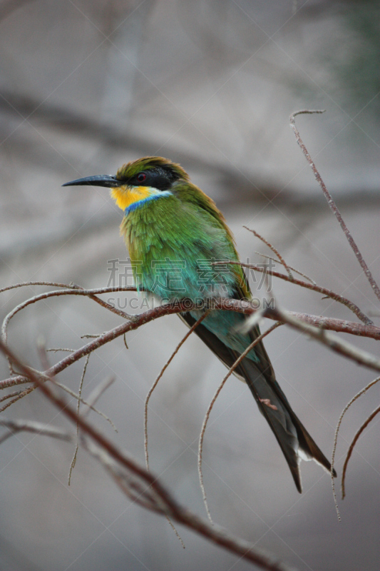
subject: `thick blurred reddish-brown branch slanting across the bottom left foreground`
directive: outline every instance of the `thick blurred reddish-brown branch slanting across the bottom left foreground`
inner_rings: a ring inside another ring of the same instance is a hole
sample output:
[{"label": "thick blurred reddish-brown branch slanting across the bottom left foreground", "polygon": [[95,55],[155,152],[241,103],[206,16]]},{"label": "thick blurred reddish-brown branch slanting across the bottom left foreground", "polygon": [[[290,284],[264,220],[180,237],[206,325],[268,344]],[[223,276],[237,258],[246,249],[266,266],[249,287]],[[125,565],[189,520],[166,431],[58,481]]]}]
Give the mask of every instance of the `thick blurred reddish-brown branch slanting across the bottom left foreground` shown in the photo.
[{"label": "thick blurred reddish-brown branch slanting across the bottom left foreground", "polygon": [[[69,420],[78,425],[81,433],[91,440],[93,455],[95,455],[94,452],[96,450],[98,460],[101,461],[108,471],[112,469],[115,481],[118,482],[120,488],[124,490],[133,501],[149,510],[168,515],[168,517],[176,522],[206,537],[210,542],[240,555],[240,557],[255,563],[255,565],[258,565],[261,569],[268,571],[289,571],[289,567],[277,559],[274,559],[274,557],[257,552],[249,542],[227,534],[227,532],[219,527],[210,525],[206,520],[202,520],[198,515],[190,512],[188,508],[178,504],[170,492],[160,484],[157,477],[151,475],[143,466],[119,450],[110,440],[93,428],[83,416],[78,415],[76,410],[68,405],[61,395],[58,395],[55,390],[52,390],[50,384],[44,383],[39,375],[21,363],[2,341],[0,341],[0,350],[16,365],[22,375],[29,378],[31,383],[35,383],[38,386],[43,395],[45,395],[63,415],[66,415]],[[93,445],[96,445],[95,450]],[[109,458],[112,459],[112,463],[109,461]]]}]

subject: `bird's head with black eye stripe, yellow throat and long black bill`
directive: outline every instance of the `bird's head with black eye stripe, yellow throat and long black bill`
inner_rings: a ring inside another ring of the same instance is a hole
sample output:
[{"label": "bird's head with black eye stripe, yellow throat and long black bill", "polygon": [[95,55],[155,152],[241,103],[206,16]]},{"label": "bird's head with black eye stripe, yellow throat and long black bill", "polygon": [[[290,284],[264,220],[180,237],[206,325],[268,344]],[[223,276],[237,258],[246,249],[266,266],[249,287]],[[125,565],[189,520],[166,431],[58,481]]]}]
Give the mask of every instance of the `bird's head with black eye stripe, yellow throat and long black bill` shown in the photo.
[{"label": "bird's head with black eye stripe, yellow throat and long black bill", "polygon": [[124,164],[115,175],[87,176],[62,186],[106,186],[111,188],[116,204],[125,211],[140,201],[170,192],[178,181],[189,182],[180,165],[160,156],[146,156]]}]

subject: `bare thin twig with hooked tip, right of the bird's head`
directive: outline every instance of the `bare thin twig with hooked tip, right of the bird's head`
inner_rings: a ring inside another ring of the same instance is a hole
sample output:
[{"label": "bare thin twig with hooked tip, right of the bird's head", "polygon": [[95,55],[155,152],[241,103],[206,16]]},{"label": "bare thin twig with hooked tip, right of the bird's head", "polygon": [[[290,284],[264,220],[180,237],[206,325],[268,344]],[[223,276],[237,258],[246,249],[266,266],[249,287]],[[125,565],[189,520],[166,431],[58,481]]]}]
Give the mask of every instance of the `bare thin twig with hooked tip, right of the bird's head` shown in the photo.
[{"label": "bare thin twig with hooked tip, right of the bird's head", "polygon": [[366,262],[364,261],[363,256],[361,256],[359,248],[357,247],[356,242],[354,241],[354,238],[352,238],[351,233],[350,233],[349,229],[347,228],[346,223],[344,222],[342,215],[337,208],[337,205],[335,204],[331,194],[327,190],[326,185],[324,184],[324,181],[322,181],[322,176],[319,174],[319,171],[317,170],[317,167],[315,166],[314,161],[312,160],[312,157],[309,155],[309,151],[307,151],[306,146],[304,146],[302,138],[299,136],[299,131],[297,130],[297,127],[295,124],[295,118],[297,117],[297,115],[302,115],[303,113],[308,113],[308,114],[324,113],[324,111],[308,111],[307,109],[304,109],[304,111],[297,111],[296,113],[292,113],[292,115],[289,118],[290,127],[294,131],[294,135],[296,136],[297,143],[301,147],[302,153],[304,153],[304,157],[306,158],[307,162],[309,163],[310,167],[312,168],[312,171],[314,173],[314,177],[316,178],[319,186],[322,188],[322,191],[324,193],[324,196],[326,197],[327,203],[328,203],[329,207],[332,209],[332,211],[334,212],[334,215],[336,216],[337,221],[339,222],[339,224],[340,224],[340,226],[344,232],[344,236],[346,236],[346,238],[349,242],[349,245],[351,246],[352,251],[354,252],[354,254],[356,256],[356,260],[359,262],[361,269],[364,271],[366,278],[368,279],[369,283],[371,284],[371,288],[374,290],[376,297],[380,300],[379,285],[377,285],[376,281],[374,280],[374,277],[371,274],[371,271],[369,270],[369,267],[366,265]]}]

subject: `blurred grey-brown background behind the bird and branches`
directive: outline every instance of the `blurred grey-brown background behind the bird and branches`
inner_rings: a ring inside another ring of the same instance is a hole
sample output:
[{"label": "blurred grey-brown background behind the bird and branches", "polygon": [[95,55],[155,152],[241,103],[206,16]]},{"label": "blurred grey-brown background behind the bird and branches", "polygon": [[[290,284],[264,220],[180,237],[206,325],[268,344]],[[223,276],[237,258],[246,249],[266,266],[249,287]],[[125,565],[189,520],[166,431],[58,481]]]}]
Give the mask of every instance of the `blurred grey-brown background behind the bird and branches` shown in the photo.
[{"label": "blurred grey-brown background behind the bird and branches", "polygon": [[[108,261],[126,256],[122,213],[106,189],[61,184],[159,155],[180,162],[217,202],[243,260],[260,263],[255,251],[270,253],[245,225],[287,263],[379,315],[289,128],[293,111],[326,109],[300,116],[297,126],[379,282],[379,1],[1,0],[0,54],[2,286],[107,285]],[[278,280],[273,286],[289,310],[356,319],[315,293]],[[2,317],[42,291],[2,293]],[[117,303],[128,306],[123,295]],[[18,314],[9,343],[41,368],[38,335],[51,348],[78,348],[81,335],[119,323],[90,300],[54,298]],[[165,317],[129,333],[128,350],[118,339],[91,356],[83,395],[115,376],[98,407],[118,433],[93,413],[91,420],[141,462],[145,395],[185,332],[176,316]],[[378,351],[374,341],[351,341]],[[284,327],[265,344],[292,407],[331,455],[339,414],[374,373]],[[61,358],[49,355],[52,363]],[[78,390],[82,365],[59,380]],[[197,439],[224,374],[192,336],[150,400],[151,468],[202,516]],[[339,476],[354,433],[378,403],[372,388],[347,413]],[[36,392],[3,414],[67,426]],[[230,378],[205,435],[215,522],[302,571],[378,570],[378,430],[375,419],[356,445],[339,523],[329,475],[303,463],[299,495],[250,391]],[[72,456],[72,445],[35,435],[1,446],[1,571],[252,568],[180,529],[183,550],[163,517],[131,504],[81,450],[68,486]]]}]

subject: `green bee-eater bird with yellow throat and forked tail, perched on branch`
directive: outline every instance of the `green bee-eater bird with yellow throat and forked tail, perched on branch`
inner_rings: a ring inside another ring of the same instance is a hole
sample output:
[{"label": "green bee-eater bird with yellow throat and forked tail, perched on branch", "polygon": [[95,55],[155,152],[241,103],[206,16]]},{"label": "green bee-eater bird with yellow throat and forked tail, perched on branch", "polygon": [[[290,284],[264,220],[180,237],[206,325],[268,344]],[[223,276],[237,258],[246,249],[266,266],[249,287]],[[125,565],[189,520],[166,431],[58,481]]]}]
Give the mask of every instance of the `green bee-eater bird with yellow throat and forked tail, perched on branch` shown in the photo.
[{"label": "green bee-eater bird with yellow throat and forked tail, perched on branch", "polygon": [[[120,229],[138,288],[167,300],[251,297],[240,265],[226,266],[223,273],[212,265],[218,260],[239,261],[234,238],[215,203],[190,182],[180,165],[148,156],[123,165],[115,176],[88,176],[63,186],[73,185],[111,188],[111,196],[124,211]],[[201,312],[192,310],[180,317],[191,326]],[[235,311],[211,310],[195,333],[230,368],[260,335],[257,326],[245,333],[246,319]],[[330,471],[329,461],[279,388],[261,342],[242,360],[235,374],[245,380],[272,428],[297,490],[302,491],[301,459],[316,460]]]}]

